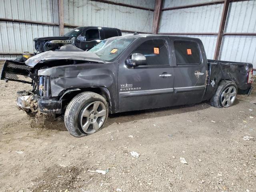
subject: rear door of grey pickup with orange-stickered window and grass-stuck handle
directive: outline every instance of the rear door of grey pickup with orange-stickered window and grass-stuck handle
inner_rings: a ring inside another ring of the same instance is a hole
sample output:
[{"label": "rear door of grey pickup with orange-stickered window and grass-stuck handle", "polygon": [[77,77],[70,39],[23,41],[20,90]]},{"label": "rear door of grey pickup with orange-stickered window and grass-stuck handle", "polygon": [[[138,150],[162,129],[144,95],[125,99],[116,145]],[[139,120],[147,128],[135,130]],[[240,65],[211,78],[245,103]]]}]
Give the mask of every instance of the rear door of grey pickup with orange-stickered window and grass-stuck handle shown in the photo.
[{"label": "rear door of grey pickup with orange-stickered window and grass-stuck handle", "polygon": [[174,47],[174,97],[176,105],[202,101],[208,71],[200,40],[172,39]]}]

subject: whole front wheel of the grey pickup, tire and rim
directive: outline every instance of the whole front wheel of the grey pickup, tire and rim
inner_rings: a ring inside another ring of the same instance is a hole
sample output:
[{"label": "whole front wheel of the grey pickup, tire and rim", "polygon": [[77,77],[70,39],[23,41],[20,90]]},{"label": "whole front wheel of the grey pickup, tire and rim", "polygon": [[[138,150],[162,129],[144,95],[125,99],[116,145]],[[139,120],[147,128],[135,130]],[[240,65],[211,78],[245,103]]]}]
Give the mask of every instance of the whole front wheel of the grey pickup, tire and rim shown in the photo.
[{"label": "whole front wheel of the grey pickup, tire and rim", "polygon": [[82,92],[76,95],[68,104],[64,114],[65,126],[75,137],[93,134],[102,129],[107,118],[108,102],[94,92]]}]

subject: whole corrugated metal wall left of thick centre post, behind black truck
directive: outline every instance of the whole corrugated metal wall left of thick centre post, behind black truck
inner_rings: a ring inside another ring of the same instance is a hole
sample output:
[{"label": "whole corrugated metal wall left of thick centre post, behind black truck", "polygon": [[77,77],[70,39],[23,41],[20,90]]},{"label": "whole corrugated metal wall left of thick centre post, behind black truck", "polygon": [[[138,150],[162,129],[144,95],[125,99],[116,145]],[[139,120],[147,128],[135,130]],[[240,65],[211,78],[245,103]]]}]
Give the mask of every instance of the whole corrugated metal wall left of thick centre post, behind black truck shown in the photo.
[{"label": "whole corrugated metal wall left of thick centre post, behind black truck", "polygon": [[[155,0],[110,0],[154,9]],[[64,0],[64,32],[72,26],[104,26],[151,32],[154,12],[92,0]],[[0,18],[58,24],[58,0],[1,0]],[[59,26],[0,21],[0,53],[34,52],[33,38],[58,36]],[[124,32],[123,34],[128,34]],[[0,54],[0,59],[17,55]]]}]

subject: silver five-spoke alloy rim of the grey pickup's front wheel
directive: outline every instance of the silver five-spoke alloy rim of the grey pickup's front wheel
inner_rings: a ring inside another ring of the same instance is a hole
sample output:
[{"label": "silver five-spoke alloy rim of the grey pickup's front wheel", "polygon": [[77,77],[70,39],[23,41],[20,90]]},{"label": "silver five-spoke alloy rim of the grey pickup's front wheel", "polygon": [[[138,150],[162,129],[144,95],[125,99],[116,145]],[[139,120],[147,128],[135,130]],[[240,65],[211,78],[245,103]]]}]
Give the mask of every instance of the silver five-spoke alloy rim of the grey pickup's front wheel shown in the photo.
[{"label": "silver five-spoke alloy rim of the grey pickup's front wheel", "polygon": [[106,106],[100,101],[89,103],[80,112],[80,124],[87,134],[96,132],[106,118]]}]

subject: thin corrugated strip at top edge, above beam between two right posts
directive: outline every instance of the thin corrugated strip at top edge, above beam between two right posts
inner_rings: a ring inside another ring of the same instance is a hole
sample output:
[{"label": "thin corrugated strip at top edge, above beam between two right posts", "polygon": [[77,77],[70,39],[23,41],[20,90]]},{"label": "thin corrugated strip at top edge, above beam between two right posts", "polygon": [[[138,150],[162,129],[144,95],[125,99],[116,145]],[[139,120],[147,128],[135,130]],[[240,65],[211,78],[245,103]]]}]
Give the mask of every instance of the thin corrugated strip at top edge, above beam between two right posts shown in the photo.
[{"label": "thin corrugated strip at top edge, above beam between two right posts", "polygon": [[197,3],[211,2],[215,0],[164,0],[163,8],[192,5]]}]

